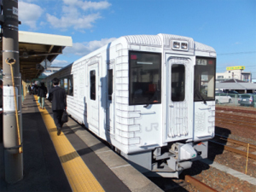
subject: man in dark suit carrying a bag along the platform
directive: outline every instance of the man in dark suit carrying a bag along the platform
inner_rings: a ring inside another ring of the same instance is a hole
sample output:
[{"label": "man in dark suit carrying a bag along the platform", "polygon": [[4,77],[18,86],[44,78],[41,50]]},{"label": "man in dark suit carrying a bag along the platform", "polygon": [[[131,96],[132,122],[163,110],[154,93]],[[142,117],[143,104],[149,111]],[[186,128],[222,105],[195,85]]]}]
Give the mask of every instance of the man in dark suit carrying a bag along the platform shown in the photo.
[{"label": "man in dark suit carrying a bag along the platform", "polygon": [[67,96],[63,88],[59,87],[60,80],[52,80],[53,88],[49,90],[48,100],[52,102],[52,112],[54,114],[54,121],[57,127],[57,135],[61,135],[61,127],[63,123],[61,122],[62,113],[67,109]]}]

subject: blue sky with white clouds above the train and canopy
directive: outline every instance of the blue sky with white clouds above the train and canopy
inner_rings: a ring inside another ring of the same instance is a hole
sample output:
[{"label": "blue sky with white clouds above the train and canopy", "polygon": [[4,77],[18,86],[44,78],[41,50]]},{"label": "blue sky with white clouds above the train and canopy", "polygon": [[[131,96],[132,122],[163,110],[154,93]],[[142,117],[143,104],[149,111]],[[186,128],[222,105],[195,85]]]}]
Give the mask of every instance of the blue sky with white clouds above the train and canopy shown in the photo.
[{"label": "blue sky with white clouds above the train and canopy", "polygon": [[168,33],[217,51],[217,72],[245,66],[256,79],[256,0],[19,0],[20,31],[71,36],[66,66],[125,35]]}]

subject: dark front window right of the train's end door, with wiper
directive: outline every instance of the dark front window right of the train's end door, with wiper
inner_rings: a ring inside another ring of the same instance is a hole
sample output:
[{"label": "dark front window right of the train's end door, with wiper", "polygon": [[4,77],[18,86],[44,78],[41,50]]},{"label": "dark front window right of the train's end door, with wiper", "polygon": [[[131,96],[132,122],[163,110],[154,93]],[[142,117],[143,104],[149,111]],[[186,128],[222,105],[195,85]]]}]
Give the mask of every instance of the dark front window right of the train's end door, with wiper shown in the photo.
[{"label": "dark front window right of the train's end door, with wiper", "polygon": [[196,57],[194,101],[214,101],[216,59]]}]

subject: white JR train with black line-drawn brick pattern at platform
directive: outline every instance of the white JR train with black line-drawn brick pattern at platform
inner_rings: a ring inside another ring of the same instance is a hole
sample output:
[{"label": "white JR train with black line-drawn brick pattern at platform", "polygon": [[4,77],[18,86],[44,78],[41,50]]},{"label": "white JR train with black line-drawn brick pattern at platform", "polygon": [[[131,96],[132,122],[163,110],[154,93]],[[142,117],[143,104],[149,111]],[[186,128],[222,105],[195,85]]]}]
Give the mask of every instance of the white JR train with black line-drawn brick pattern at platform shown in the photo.
[{"label": "white JR train with black line-drawn brick pattern at platform", "polygon": [[193,38],[114,40],[44,79],[61,79],[67,113],[145,174],[178,177],[214,137],[216,52]]}]

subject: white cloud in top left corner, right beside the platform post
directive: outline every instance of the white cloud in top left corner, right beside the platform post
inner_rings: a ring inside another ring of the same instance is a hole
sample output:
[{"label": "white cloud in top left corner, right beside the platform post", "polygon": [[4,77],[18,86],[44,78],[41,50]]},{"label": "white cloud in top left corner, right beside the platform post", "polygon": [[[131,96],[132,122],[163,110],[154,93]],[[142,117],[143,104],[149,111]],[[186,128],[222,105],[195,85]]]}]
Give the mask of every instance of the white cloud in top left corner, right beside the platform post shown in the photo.
[{"label": "white cloud in top left corner, right beside the platform post", "polygon": [[44,9],[33,3],[19,2],[19,20],[21,25],[30,26],[32,29],[37,28],[37,21],[43,14]]}]

